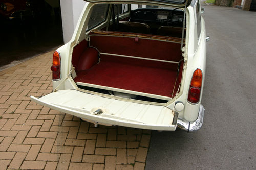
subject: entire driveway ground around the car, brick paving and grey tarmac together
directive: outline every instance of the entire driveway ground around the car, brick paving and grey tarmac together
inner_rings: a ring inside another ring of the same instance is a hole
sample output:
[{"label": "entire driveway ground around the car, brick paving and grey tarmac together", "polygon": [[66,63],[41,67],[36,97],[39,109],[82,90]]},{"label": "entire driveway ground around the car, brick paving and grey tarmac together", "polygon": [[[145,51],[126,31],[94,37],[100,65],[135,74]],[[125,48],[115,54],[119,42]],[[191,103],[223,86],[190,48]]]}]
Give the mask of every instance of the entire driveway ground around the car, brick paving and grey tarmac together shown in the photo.
[{"label": "entire driveway ground around the car, brick paving and grey tarmac together", "polygon": [[254,169],[256,13],[205,8],[200,131],[95,128],[31,102],[52,91],[49,52],[0,72],[0,169]]}]

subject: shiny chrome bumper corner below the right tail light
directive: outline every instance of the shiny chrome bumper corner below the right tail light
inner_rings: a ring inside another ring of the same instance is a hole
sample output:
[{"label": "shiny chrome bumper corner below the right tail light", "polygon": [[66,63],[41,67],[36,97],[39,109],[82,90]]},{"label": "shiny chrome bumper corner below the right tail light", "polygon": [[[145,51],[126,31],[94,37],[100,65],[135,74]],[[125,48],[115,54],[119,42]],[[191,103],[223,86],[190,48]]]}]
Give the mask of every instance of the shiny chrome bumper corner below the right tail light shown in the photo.
[{"label": "shiny chrome bumper corner below the right tail light", "polygon": [[199,130],[202,127],[203,119],[204,119],[204,107],[203,105],[200,105],[198,118],[196,119],[195,122],[187,122],[185,120],[178,119],[177,126],[184,131],[194,132],[196,130]]}]

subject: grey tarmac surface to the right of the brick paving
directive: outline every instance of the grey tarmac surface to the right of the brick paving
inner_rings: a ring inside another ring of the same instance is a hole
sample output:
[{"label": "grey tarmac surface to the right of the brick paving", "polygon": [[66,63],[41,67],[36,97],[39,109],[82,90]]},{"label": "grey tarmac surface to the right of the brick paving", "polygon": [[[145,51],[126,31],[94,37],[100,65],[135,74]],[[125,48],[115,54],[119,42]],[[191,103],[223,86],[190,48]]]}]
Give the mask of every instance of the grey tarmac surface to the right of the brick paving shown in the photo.
[{"label": "grey tarmac surface to the right of the brick paving", "polygon": [[204,6],[204,125],[151,136],[146,169],[256,168],[256,13]]}]

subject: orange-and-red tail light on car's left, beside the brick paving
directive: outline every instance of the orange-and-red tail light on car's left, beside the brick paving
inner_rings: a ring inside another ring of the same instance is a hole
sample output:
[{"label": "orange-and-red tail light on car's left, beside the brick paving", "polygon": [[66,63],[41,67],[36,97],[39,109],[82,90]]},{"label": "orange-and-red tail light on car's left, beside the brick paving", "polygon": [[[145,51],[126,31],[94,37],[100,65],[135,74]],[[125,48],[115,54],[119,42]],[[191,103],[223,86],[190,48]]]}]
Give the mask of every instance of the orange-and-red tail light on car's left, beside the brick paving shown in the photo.
[{"label": "orange-and-red tail light on car's left, beside the brick paving", "polygon": [[53,53],[53,58],[52,58],[52,80],[59,80],[60,77],[60,55],[57,51]]}]

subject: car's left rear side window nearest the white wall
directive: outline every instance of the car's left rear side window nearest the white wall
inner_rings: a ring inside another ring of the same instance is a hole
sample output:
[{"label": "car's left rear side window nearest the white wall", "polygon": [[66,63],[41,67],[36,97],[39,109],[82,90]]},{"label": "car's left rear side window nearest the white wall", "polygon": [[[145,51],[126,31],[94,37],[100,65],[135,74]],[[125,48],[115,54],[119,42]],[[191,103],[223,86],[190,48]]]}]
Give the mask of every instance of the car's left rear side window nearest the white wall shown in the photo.
[{"label": "car's left rear side window nearest the white wall", "polygon": [[87,30],[99,25],[106,20],[109,4],[96,4],[88,22]]}]

